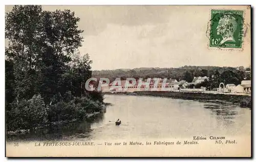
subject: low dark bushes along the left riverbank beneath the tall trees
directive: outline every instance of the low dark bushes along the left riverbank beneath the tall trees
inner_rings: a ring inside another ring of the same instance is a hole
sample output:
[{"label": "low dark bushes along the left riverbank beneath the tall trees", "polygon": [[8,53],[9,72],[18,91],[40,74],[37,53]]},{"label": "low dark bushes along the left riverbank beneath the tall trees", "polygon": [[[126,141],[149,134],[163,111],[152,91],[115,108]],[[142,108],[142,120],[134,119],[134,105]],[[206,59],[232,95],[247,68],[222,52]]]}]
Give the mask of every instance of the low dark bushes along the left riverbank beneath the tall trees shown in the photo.
[{"label": "low dark bushes along the left riverbank beneath the tall trees", "polygon": [[98,100],[74,97],[71,92],[57,98],[59,100],[52,105],[46,105],[40,95],[6,105],[10,110],[6,112],[7,129],[30,129],[48,122],[84,120],[88,114],[100,112],[103,106]]}]

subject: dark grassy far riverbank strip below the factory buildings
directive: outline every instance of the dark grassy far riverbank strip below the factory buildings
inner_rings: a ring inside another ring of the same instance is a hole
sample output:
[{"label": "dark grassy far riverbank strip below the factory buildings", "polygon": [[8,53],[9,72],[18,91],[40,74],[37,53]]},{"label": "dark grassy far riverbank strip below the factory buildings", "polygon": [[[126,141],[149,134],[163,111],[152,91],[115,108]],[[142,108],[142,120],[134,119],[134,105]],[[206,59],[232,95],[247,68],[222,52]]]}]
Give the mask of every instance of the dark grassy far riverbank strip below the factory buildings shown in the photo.
[{"label": "dark grassy far riverbank strip below the factory buildings", "polygon": [[138,95],[138,96],[155,96],[168,97],[175,99],[199,100],[207,102],[232,103],[240,105],[241,107],[251,108],[251,96],[246,95],[232,95],[232,94],[213,94],[213,93],[190,93],[190,92],[162,92],[162,91],[138,91],[134,93],[119,92],[119,93],[105,93],[114,95]]}]

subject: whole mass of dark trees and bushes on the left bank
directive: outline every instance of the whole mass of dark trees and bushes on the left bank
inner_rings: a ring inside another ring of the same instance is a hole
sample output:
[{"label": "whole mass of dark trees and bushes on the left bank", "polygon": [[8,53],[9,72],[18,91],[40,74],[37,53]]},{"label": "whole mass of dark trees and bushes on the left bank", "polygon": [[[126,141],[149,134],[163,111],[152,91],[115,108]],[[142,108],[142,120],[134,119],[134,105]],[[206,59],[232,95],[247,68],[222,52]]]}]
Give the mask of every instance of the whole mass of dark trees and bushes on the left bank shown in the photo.
[{"label": "whole mass of dark trees and bushes on the left bank", "polygon": [[14,6],[5,20],[8,128],[83,119],[100,111],[102,94],[91,95],[84,87],[92,61],[78,52],[83,31],[74,12]]}]

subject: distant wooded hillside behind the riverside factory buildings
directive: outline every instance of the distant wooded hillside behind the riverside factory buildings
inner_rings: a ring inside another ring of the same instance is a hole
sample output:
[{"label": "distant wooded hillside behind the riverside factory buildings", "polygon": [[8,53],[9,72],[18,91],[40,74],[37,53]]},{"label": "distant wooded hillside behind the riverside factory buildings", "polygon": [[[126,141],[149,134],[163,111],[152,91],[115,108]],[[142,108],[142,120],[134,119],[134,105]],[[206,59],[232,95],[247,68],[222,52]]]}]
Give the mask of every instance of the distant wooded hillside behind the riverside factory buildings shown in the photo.
[{"label": "distant wooded hillside behind the riverside factory buildings", "polygon": [[[92,72],[93,77],[106,77],[111,81],[115,80],[115,78],[119,77],[121,79],[126,79],[127,77],[133,78],[172,78],[179,80],[186,80],[187,82],[191,82],[194,77],[198,76],[212,76],[212,75],[220,75],[224,71],[225,75],[230,75],[227,77],[235,77],[237,83],[244,78],[250,79],[250,73],[246,73],[245,71],[250,71],[250,68],[244,67],[218,67],[218,66],[183,66],[179,68],[134,68],[134,69],[115,69],[115,70],[95,70]],[[225,77],[223,75],[223,77]]]}]

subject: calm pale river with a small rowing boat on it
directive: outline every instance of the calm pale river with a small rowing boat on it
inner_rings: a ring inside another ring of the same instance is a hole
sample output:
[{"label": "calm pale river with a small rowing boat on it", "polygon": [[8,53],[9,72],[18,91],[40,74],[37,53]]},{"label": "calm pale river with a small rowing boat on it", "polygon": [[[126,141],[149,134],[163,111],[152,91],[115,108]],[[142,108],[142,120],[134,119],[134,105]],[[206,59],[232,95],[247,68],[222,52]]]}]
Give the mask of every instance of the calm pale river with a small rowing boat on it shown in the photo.
[{"label": "calm pale river with a small rowing boat on it", "polygon": [[[250,136],[251,110],[237,105],[147,96],[105,95],[112,105],[93,122],[66,123],[8,136],[11,141]],[[115,125],[117,119],[122,121]]]}]

